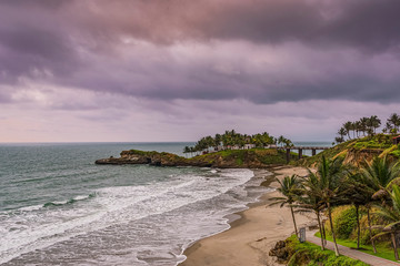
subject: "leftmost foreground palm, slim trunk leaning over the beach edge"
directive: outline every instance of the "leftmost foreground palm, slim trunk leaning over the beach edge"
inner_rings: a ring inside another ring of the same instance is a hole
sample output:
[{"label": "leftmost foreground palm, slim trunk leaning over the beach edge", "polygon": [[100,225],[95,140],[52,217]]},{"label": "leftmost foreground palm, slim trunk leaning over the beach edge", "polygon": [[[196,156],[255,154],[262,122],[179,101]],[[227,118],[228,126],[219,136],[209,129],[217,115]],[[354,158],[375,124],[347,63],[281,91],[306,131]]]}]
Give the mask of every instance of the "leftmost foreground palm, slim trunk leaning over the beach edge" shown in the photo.
[{"label": "leftmost foreground palm, slim trunk leaning over the beach edge", "polygon": [[302,192],[301,181],[297,175],[284,176],[283,181],[276,178],[276,181],[279,183],[279,187],[277,188],[277,191],[279,191],[282,194],[282,196],[272,197],[271,200],[273,201],[273,203],[271,203],[270,205],[280,204],[280,207],[283,207],[284,205],[289,205],[293,219],[294,232],[296,235],[299,236],[296,225],[293,204]]}]

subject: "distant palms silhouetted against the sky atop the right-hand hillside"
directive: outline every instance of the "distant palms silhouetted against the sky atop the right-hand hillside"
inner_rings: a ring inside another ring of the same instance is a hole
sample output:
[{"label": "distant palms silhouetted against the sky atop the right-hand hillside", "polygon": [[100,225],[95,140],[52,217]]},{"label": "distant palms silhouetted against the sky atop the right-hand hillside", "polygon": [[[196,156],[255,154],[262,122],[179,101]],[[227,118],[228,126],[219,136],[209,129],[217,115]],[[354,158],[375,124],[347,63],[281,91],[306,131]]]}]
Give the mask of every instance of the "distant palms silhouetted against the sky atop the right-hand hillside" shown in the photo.
[{"label": "distant palms silhouetted against the sky atop the right-hand hillside", "polygon": [[[342,143],[352,139],[374,135],[377,130],[381,126],[382,121],[377,116],[372,115],[370,117],[361,117],[358,121],[348,121],[339,129],[338,135],[334,141],[337,143]],[[382,133],[387,134],[397,134],[400,129],[400,115],[392,113],[389,119],[387,119],[386,125],[382,129]]]}]

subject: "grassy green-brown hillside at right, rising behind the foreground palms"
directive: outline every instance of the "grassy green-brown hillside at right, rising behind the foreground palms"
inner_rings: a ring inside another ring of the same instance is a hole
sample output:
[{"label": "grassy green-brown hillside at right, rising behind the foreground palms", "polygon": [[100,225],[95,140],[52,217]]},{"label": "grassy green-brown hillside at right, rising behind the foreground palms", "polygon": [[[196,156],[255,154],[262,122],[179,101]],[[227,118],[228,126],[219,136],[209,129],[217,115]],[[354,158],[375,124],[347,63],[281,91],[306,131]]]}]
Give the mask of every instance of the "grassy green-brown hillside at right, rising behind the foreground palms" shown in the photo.
[{"label": "grassy green-brown hillside at right, rising behind the foreground palms", "polygon": [[353,139],[340,143],[332,149],[326,150],[316,156],[304,157],[297,162],[298,165],[314,166],[322,156],[334,158],[344,157],[346,164],[360,166],[366,160],[371,161],[376,156],[388,156],[389,160],[400,158],[400,145],[393,144],[397,135],[377,134],[362,139]]}]

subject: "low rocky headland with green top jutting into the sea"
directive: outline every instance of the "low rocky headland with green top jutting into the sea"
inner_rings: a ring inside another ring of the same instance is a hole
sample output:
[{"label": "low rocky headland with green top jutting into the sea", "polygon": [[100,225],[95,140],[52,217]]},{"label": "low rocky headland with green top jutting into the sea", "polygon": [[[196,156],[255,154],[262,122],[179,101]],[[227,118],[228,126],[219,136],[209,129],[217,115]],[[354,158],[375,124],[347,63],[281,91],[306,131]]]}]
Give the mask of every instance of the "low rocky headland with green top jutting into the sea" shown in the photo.
[{"label": "low rocky headland with green top jutting into the sea", "polygon": [[172,153],[130,150],[121,157],[96,161],[97,164],[150,164],[157,166],[199,166],[219,168],[264,168],[286,164],[286,152],[276,149],[224,150],[194,157],[182,157]]}]

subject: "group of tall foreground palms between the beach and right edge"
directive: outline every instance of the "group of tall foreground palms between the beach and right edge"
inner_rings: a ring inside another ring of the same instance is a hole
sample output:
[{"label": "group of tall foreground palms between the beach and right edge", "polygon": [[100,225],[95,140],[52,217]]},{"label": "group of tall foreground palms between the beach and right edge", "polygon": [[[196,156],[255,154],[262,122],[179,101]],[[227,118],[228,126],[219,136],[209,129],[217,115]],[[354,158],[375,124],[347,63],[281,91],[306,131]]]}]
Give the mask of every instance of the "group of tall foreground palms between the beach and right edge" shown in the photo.
[{"label": "group of tall foreground palms between the beach and right edge", "polygon": [[[368,229],[373,252],[377,253],[374,241],[390,235],[396,259],[398,255],[398,235],[400,233],[400,163],[389,162],[387,157],[376,157],[366,162],[361,168],[343,164],[343,158],[327,160],[322,156],[316,172],[308,170],[308,175],[286,176],[278,180],[278,191],[282,194],[273,198],[273,204],[291,209],[294,232],[297,212],[312,212],[318,221],[321,235],[321,248],[326,246],[326,229],[321,222],[328,216],[334,244],[334,253],[339,256],[337,237],[332,221],[332,207],[352,204],[357,216],[357,248],[360,247],[360,209],[367,212]],[[371,225],[371,216],[380,224]],[[380,233],[373,235],[373,229]]]}]

